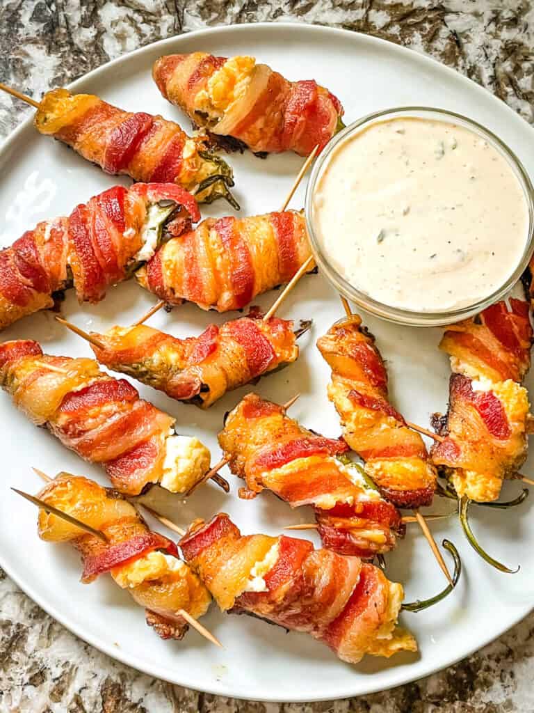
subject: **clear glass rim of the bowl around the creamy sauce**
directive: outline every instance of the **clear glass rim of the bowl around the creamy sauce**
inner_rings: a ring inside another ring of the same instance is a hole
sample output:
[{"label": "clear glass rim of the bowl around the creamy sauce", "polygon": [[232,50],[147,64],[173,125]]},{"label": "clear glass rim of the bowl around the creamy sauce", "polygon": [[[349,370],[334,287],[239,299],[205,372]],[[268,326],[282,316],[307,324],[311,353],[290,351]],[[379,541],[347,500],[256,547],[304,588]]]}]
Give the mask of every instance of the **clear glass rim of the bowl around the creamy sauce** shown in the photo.
[{"label": "clear glass rim of the bowl around the creamy sauce", "polygon": [[[360,133],[360,131],[368,128],[374,123],[384,122],[384,120],[399,117],[445,120],[449,123],[458,124],[471,130],[473,133],[476,133],[481,136],[481,138],[487,140],[493,148],[498,150],[498,152],[506,158],[521,187],[523,188],[525,202],[528,207],[528,234],[525,241],[525,250],[523,251],[523,255],[521,256],[518,266],[514,270],[513,274],[508,277],[506,282],[504,282],[503,285],[496,289],[492,294],[488,294],[487,297],[484,297],[477,302],[473,302],[472,304],[456,309],[444,310],[443,312],[417,312],[412,309],[400,309],[399,307],[393,307],[392,305],[378,302],[365,292],[360,292],[360,290],[350,284],[350,282],[347,282],[347,280],[342,277],[339,272],[337,272],[335,267],[330,264],[328,257],[321,251],[318,237],[314,230],[313,198],[315,195],[315,188],[323,175],[323,171],[328,165],[330,155],[332,155],[335,148],[337,148],[343,140],[351,135]],[[466,116],[456,114],[453,111],[446,111],[445,109],[422,106],[405,106],[387,109],[386,111],[378,111],[376,113],[368,114],[367,116],[364,116],[347,126],[345,129],[340,131],[340,133],[337,133],[315,161],[310,179],[308,180],[308,188],[306,189],[305,218],[315,262],[317,262],[317,265],[321,272],[323,272],[323,275],[325,275],[325,277],[327,277],[327,279],[333,284],[335,289],[337,289],[337,292],[340,292],[340,294],[344,297],[350,299],[350,301],[357,304],[358,307],[362,307],[363,309],[366,309],[367,312],[377,315],[377,317],[387,319],[389,322],[407,324],[413,327],[436,327],[441,324],[451,324],[452,322],[459,322],[461,319],[466,319],[467,317],[471,317],[473,314],[486,309],[486,307],[489,307],[490,304],[493,304],[501,299],[501,297],[504,297],[506,293],[512,289],[514,284],[518,282],[518,279],[520,279],[521,275],[528,266],[530,256],[534,250],[533,186],[530,183],[530,178],[528,177],[528,173],[523,167],[523,164],[513,153],[513,151],[490,130],[484,128],[480,124],[476,123],[476,121],[473,121]]]}]

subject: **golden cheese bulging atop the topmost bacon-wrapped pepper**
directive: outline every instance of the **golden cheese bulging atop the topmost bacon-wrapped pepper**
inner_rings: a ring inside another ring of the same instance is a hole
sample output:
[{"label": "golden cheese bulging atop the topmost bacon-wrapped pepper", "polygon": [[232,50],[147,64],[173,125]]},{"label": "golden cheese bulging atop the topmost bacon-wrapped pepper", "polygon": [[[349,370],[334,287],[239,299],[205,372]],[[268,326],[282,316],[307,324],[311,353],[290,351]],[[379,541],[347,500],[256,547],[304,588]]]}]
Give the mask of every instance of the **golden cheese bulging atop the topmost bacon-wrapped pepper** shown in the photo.
[{"label": "golden cheese bulging atop the topmost bacon-wrapped pepper", "polygon": [[221,117],[229,111],[243,96],[251,81],[256,60],[253,57],[238,56],[227,59],[224,65],[214,72],[206,88],[197,93],[195,111]]}]

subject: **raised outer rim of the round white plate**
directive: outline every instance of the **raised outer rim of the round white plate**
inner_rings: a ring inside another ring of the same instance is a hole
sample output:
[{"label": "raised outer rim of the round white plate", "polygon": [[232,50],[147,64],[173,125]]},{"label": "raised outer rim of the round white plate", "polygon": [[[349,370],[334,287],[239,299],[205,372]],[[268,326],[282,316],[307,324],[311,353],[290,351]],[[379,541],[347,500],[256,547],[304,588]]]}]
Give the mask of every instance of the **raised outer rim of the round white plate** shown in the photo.
[{"label": "raised outer rim of the round white plate", "polygon": [[[440,61],[436,60],[434,57],[430,56],[427,53],[419,53],[417,51],[414,51],[412,48],[397,44],[396,42],[387,40],[387,39],[382,39],[380,37],[376,37],[370,34],[366,34],[364,32],[360,31],[354,31],[354,30],[349,30],[349,29],[344,29],[344,28],[338,28],[338,27],[332,27],[328,25],[321,25],[321,24],[308,24],[305,22],[293,22],[293,21],[283,21],[283,22],[246,22],[246,23],[240,23],[236,25],[220,25],[220,26],[214,26],[214,27],[204,27],[201,29],[196,29],[192,31],[184,31],[181,34],[176,34],[173,35],[172,37],[167,37],[164,39],[160,39],[151,43],[147,43],[146,45],[136,48],[135,50],[132,50],[130,52],[124,53],[102,65],[99,67],[91,70],[88,73],[83,74],[82,76],[78,77],[74,81],[68,83],[65,88],[68,89],[76,89],[80,84],[85,83],[86,81],[92,81],[95,78],[98,78],[100,73],[105,73],[107,72],[110,67],[112,66],[117,66],[119,64],[127,63],[130,61],[132,58],[135,58],[137,56],[140,56],[142,53],[147,53],[148,51],[154,49],[155,47],[161,47],[165,48],[166,46],[171,46],[173,43],[176,43],[179,41],[182,37],[198,37],[202,38],[211,34],[235,34],[235,33],[240,33],[240,32],[249,32],[253,31],[255,29],[261,30],[261,31],[269,31],[273,32],[276,31],[277,29],[285,29],[285,30],[295,30],[298,29],[299,31],[305,31],[309,32],[310,34],[337,34],[337,35],[342,35],[345,37],[352,37],[352,36],[357,36],[357,38],[360,41],[363,41],[364,43],[369,43],[370,45],[374,45],[375,47],[380,47],[383,46],[384,43],[389,45],[389,49],[392,50],[394,48],[394,51],[397,51],[399,54],[403,56],[412,56],[415,61],[422,63],[422,64],[430,64],[431,66],[438,66],[440,71],[446,71],[449,72],[451,75],[453,75],[456,78],[456,81],[461,81],[464,83],[466,86],[469,87],[469,91],[471,92],[476,92],[480,93],[481,96],[492,96],[496,100],[498,100],[498,97],[493,95],[490,91],[488,91],[486,88],[483,86],[479,85],[475,81],[473,81],[471,78],[468,78],[464,74],[460,73],[454,68],[451,68],[447,66],[444,63],[441,63]],[[511,112],[511,116],[516,116],[518,119],[522,120],[525,127],[530,128],[530,130],[534,131],[534,127],[528,123],[525,119],[523,119],[522,116],[520,116],[518,113],[513,111],[513,109],[506,104],[506,102],[503,103],[503,108],[506,108],[508,111]],[[14,128],[7,136],[6,138],[2,141],[0,144],[0,156],[7,151],[9,151],[16,143],[16,140],[19,138],[19,134],[23,133],[31,124],[33,123],[33,117],[28,116],[23,122]],[[185,688],[189,688],[191,690],[195,690],[198,692],[206,692],[209,694],[214,694],[218,696],[224,696],[224,697],[234,697],[242,700],[248,700],[248,701],[257,701],[257,702],[280,702],[278,698],[276,697],[251,697],[250,694],[247,692],[240,692],[239,687],[232,687],[232,684],[225,684],[222,681],[215,681],[212,683],[206,683],[206,687],[203,687],[201,689],[197,689],[191,686],[187,680],[184,680],[180,677],[179,675],[179,670],[177,671],[177,677],[174,677],[174,679],[167,678],[162,676],[161,673],[157,672],[157,666],[156,665],[150,665],[147,664],[145,665],[142,662],[137,662],[137,655],[135,654],[130,654],[127,651],[124,651],[122,649],[119,649],[117,647],[114,647],[113,645],[108,645],[106,642],[100,641],[98,639],[98,635],[93,635],[89,630],[85,633],[83,625],[78,625],[77,622],[73,621],[70,622],[68,620],[68,617],[63,617],[61,614],[61,611],[58,610],[56,605],[53,603],[49,603],[48,600],[46,600],[46,597],[38,592],[38,590],[34,589],[31,583],[27,583],[26,581],[22,581],[23,578],[19,580],[19,576],[16,575],[13,571],[10,570],[9,565],[6,565],[4,561],[4,556],[3,553],[0,550],[0,567],[7,573],[9,578],[16,583],[16,585],[25,593],[28,597],[31,598],[36,604],[38,604],[41,609],[43,609],[49,616],[51,616],[54,620],[58,621],[61,625],[66,627],[66,629],[73,634],[74,636],[78,637],[80,640],[88,643],[90,646],[95,647],[96,650],[104,653],[105,655],[108,655],[112,660],[119,661],[120,663],[130,666],[132,669],[135,669],[141,673],[147,674],[149,676],[154,677],[155,679],[160,679],[163,681],[167,681],[171,684],[174,685],[179,685]],[[46,600],[46,601],[45,601]],[[515,625],[517,625],[519,622],[525,619],[531,612],[534,610],[534,602],[532,605],[527,607],[527,609],[518,614],[516,617],[513,617],[513,620],[509,622],[509,624],[501,630],[498,634],[490,634],[488,636],[481,636],[481,638],[478,640],[476,645],[474,646],[468,646],[466,647],[465,650],[462,650],[461,655],[459,656],[454,656],[453,659],[451,659],[446,665],[431,665],[429,670],[424,673],[424,674],[409,674],[410,670],[410,665],[406,665],[406,667],[402,669],[399,668],[397,677],[394,676],[394,669],[389,669],[390,672],[392,672],[392,677],[394,680],[389,682],[385,687],[383,684],[373,684],[372,681],[375,677],[375,674],[369,674],[369,676],[366,679],[365,685],[361,687],[361,685],[355,689],[354,687],[350,687],[350,684],[347,688],[345,689],[340,689],[340,692],[336,694],[328,694],[327,697],[322,697],[318,694],[312,695],[310,697],[303,697],[302,694],[295,694],[294,696],[287,697],[286,700],[282,701],[281,703],[308,703],[308,702],[318,702],[318,701],[333,701],[333,700],[338,700],[338,699],[345,699],[345,698],[350,698],[354,696],[364,696],[364,695],[369,695],[372,693],[376,692],[382,692],[382,691],[387,691],[389,689],[392,689],[393,687],[397,686],[402,686],[406,685],[409,683],[412,683],[417,680],[422,680],[436,672],[443,671],[446,668],[449,668],[451,666],[456,665],[461,660],[466,659],[467,657],[473,655],[473,653],[477,652],[478,650],[481,650],[481,648],[487,646],[491,642],[497,640],[499,637],[503,636],[511,630]],[[84,631],[84,633],[80,633],[81,631]],[[343,665],[342,662],[340,662],[340,665]],[[407,675],[405,675],[407,673]]]}]

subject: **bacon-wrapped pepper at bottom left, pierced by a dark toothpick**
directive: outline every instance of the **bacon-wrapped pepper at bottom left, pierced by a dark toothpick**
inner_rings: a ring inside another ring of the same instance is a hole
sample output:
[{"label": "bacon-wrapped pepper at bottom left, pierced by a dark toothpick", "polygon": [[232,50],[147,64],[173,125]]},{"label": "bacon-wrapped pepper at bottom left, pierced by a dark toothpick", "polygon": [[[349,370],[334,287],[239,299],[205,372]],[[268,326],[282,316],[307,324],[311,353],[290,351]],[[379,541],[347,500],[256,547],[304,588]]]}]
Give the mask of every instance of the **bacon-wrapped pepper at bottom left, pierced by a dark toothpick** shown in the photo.
[{"label": "bacon-wrapped pepper at bottom left, pierced by a dark toothpick", "polygon": [[39,498],[106,535],[108,542],[39,511],[39,537],[46,542],[70,542],[78,550],[83,583],[109,572],[117,585],[145,607],[147,624],[162,639],[182,639],[187,632],[179,610],[195,619],[206,613],[209,592],[179,559],[176,545],[152,532],[120,493],[88,478],[60,473]]}]

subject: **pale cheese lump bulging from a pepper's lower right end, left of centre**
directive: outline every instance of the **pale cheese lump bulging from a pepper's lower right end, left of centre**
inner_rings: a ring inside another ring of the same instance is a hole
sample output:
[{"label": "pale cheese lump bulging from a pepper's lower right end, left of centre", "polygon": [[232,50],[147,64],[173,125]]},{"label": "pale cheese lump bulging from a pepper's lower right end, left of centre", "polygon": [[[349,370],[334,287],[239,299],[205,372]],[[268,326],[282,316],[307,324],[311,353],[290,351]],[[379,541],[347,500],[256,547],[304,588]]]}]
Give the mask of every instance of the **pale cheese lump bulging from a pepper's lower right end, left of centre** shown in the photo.
[{"label": "pale cheese lump bulging from a pepper's lower right end, left of centre", "polygon": [[209,471],[211,454],[194,436],[169,433],[165,440],[162,488],[171,493],[184,493]]}]

